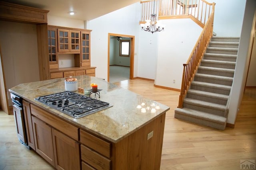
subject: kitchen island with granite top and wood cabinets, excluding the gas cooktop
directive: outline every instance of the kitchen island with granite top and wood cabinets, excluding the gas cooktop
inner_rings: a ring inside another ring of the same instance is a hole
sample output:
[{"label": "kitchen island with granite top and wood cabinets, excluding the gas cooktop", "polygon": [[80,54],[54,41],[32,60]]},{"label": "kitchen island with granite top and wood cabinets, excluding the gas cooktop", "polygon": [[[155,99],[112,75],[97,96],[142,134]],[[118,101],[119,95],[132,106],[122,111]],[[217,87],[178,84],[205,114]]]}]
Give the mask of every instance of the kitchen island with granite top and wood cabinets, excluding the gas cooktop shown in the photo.
[{"label": "kitchen island with granite top and wood cabinets, excluding the gas cooktop", "polygon": [[[170,108],[91,76],[78,87],[98,84],[112,107],[75,119],[35,100],[65,91],[64,78],[19,84],[28,145],[56,169],[160,169],[165,114]],[[78,93],[78,92],[76,92]]]}]

